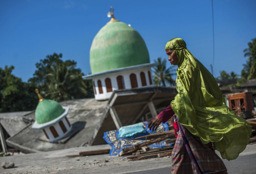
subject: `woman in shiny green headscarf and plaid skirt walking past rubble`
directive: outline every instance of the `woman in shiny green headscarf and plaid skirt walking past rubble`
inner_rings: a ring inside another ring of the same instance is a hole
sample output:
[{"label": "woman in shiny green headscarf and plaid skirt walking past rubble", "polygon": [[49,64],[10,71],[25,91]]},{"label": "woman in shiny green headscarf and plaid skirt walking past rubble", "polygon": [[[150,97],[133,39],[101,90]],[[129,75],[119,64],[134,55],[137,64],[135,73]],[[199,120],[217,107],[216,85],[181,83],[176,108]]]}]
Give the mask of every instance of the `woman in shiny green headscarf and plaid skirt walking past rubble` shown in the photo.
[{"label": "woman in shiny green headscarf and plaid skirt walking past rubble", "polygon": [[183,39],[172,38],[165,51],[170,63],[178,66],[178,94],[148,127],[155,130],[175,113],[172,120],[179,131],[171,173],[227,173],[213,147],[222,158],[235,159],[249,142],[250,124],[226,106],[215,78],[186,49]]}]

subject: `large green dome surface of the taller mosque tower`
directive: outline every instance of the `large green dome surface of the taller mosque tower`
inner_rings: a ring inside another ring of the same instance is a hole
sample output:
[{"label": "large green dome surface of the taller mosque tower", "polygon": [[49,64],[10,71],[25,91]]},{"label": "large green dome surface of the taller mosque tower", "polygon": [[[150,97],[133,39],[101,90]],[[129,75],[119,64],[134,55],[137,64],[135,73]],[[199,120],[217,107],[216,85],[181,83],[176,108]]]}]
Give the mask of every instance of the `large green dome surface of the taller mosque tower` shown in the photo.
[{"label": "large green dome surface of the taller mosque tower", "polygon": [[127,24],[115,21],[104,25],[90,47],[91,73],[149,63],[143,38]]}]

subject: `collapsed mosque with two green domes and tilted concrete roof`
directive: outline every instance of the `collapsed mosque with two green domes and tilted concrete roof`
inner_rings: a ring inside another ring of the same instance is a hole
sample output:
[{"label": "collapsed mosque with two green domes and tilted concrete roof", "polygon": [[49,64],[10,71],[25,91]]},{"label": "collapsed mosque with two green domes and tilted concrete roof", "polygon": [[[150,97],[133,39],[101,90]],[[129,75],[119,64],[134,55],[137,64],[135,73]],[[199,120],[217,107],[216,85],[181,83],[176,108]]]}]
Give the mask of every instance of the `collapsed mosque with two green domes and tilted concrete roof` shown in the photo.
[{"label": "collapsed mosque with two green domes and tilted concrete roof", "polygon": [[[156,63],[150,63],[143,38],[116,20],[113,8],[109,16],[92,40],[91,74],[83,76],[92,80],[94,98],[57,103],[37,90],[35,110],[0,114],[8,146],[30,153],[105,144],[105,131],[148,120],[169,104],[176,89],[153,85],[151,67]],[[14,121],[15,131],[10,126]]]}]

